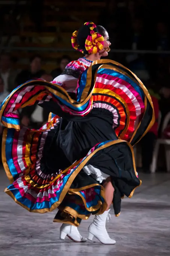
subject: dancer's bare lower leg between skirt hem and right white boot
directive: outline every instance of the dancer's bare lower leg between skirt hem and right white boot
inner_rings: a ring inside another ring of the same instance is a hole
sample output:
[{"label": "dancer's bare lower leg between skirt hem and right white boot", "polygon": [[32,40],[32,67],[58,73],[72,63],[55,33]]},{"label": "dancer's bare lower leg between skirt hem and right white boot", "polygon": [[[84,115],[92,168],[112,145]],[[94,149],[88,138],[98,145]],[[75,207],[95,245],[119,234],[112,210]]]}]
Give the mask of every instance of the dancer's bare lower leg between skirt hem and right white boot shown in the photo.
[{"label": "dancer's bare lower leg between skirt hem and right white boot", "polygon": [[107,209],[106,211],[110,208],[112,202],[113,202],[113,193],[114,193],[114,187],[111,183],[111,178],[108,177],[103,184],[105,188],[105,200],[107,203]]}]

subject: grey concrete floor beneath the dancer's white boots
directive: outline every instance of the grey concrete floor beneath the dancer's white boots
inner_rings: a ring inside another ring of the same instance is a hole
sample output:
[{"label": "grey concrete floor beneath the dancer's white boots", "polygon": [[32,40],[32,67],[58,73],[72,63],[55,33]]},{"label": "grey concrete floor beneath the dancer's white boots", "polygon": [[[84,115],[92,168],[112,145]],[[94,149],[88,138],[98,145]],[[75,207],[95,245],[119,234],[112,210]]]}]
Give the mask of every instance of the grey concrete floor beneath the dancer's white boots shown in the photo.
[{"label": "grey concrete floor beneath the dancer's white boots", "polygon": [[[107,222],[116,245],[59,240],[56,211],[29,213],[3,192],[9,184],[0,170],[0,256],[170,256],[170,174],[141,174],[143,184],[134,197],[122,201],[121,215]],[[80,233],[87,237],[93,218],[83,221]]]}]

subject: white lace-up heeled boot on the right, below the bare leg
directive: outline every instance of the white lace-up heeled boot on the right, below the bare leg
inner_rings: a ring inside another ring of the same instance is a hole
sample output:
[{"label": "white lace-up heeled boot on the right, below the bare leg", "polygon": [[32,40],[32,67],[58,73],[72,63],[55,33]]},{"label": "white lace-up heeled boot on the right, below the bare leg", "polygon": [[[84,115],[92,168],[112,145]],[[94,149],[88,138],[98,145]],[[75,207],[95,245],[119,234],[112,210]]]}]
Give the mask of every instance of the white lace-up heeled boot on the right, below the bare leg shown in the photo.
[{"label": "white lace-up heeled boot on the right, below the bare leg", "polygon": [[95,236],[95,238],[97,238],[102,244],[116,244],[116,241],[109,237],[105,227],[109,212],[110,209],[101,215],[95,215],[95,218],[88,229],[89,240],[92,240]]}]

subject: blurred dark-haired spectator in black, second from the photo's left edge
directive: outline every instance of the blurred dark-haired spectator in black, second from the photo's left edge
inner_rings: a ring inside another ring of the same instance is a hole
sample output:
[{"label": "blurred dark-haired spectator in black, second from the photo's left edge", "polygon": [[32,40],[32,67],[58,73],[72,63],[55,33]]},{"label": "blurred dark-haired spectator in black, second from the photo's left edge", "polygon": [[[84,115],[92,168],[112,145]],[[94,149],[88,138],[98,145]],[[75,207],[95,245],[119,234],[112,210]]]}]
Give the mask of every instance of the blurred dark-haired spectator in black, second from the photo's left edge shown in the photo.
[{"label": "blurred dark-haired spectator in black, second from the photo's left edge", "polygon": [[40,78],[45,74],[45,71],[41,69],[42,59],[41,56],[35,55],[30,59],[30,69],[22,70],[16,78],[17,85],[23,84],[30,79]]}]

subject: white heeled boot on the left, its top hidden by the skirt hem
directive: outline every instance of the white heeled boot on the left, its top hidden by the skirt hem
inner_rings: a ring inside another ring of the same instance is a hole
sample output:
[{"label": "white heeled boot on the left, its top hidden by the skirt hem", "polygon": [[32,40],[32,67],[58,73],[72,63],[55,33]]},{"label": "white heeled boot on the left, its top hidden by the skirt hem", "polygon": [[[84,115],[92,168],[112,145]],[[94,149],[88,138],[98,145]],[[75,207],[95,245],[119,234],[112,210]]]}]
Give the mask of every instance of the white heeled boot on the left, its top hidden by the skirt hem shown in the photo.
[{"label": "white heeled boot on the left, its top hidden by the skirt hem", "polygon": [[63,223],[60,227],[60,239],[64,240],[68,236],[74,242],[86,242],[87,239],[80,235],[77,227]]}]

